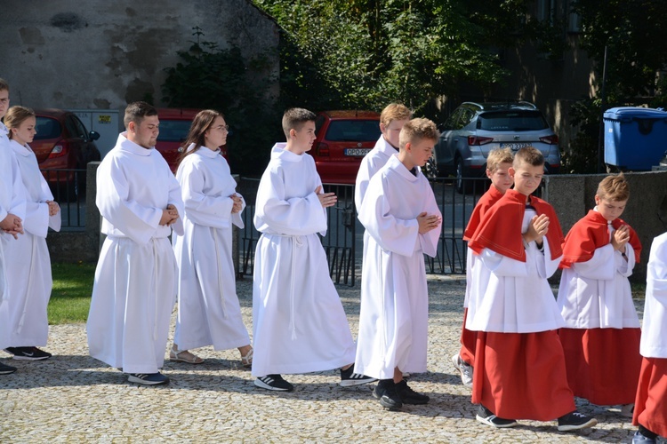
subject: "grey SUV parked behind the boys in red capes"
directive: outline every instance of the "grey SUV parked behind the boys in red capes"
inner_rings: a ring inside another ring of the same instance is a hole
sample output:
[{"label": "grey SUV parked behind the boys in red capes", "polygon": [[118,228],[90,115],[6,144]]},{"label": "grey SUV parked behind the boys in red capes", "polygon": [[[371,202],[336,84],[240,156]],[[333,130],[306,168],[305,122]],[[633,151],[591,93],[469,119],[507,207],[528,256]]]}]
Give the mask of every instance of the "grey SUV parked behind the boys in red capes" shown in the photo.
[{"label": "grey SUV parked behind the boys in red capes", "polygon": [[535,147],[544,155],[545,172],[559,172],[559,137],[532,103],[464,102],[439,130],[431,174],[454,174],[459,193],[470,189],[471,181],[464,178],[485,176],[486,156],[495,148],[508,147],[516,152],[522,147]]}]

